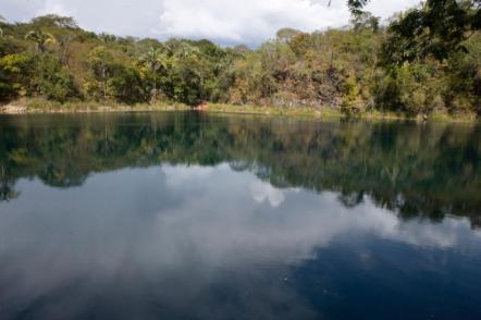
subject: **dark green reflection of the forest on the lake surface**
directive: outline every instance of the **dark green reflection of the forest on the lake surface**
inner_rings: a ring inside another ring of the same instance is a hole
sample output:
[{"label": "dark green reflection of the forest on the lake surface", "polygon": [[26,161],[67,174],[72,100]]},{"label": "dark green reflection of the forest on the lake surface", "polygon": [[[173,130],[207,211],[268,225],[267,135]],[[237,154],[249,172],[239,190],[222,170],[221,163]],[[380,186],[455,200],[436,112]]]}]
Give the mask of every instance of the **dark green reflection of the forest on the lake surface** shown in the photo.
[{"label": "dark green reflection of the forest on the lake surface", "polygon": [[335,192],[345,206],[368,196],[406,219],[456,214],[481,226],[479,159],[477,125],[319,124],[192,112],[5,116],[0,201],[22,196],[15,189],[22,177],[72,187],[92,172],[229,162],[281,188]]}]

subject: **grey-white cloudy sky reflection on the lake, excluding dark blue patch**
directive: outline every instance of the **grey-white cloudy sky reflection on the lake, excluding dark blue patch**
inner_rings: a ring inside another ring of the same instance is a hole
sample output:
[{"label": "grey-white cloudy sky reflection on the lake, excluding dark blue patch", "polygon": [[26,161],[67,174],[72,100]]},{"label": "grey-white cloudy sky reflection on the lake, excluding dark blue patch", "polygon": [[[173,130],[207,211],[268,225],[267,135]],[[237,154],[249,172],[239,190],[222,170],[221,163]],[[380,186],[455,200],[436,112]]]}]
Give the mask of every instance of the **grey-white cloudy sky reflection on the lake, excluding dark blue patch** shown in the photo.
[{"label": "grey-white cloudy sky reflection on the lake, excluding dark blue patch", "polygon": [[[111,316],[92,296],[126,318],[206,316],[212,306],[218,318],[239,309],[275,318],[287,301],[283,316],[310,317],[308,303],[276,281],[333,243],[374,237],[469,256],[481,239],[467,219],[403,221],[369,198],[346,208],[336,194],[279,189],[227,164],[122,170],[69,189],[23,180],[16,189],[21,198],[0,204],[0,300],[9,301],[0,318],[39,308],[39,296],[51,299],[41,309],[49,319],[86,308]],[[220,308],[215,287],[237,303]]]}]

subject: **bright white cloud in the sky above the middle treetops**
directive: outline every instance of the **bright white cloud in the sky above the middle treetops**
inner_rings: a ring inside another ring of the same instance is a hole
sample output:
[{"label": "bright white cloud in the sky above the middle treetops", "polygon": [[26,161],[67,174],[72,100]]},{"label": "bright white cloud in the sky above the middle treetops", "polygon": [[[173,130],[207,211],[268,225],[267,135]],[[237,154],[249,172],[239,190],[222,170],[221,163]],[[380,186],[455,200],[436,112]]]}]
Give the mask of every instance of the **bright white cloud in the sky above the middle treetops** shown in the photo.
[{"label": "bright white cloud in the sky above the middle treetops", "polygon": [[282,27],[313,30],[343,25],[347,8],[308,0],[164,0],[155,30],[161,37],[210,37],[221,42],[258,44]]}]

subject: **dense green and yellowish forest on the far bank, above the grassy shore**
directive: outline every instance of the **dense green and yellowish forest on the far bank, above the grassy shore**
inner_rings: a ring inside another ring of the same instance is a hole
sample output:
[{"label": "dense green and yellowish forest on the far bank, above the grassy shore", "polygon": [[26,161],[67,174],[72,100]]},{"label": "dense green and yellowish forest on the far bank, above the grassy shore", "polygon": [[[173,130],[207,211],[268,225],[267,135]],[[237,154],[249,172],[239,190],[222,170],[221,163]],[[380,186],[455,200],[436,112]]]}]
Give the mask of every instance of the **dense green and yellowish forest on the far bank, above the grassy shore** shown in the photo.
[{"label": "dense green and yellowish forest on the far bank, above the grassy shore", "polygon": [[388,26],[349,0],[353,23],[281,29],[257,50],[121,38],[71,17],[0,22],[0,100],[201,102],[481,114],[479,0],[429,0]]}]

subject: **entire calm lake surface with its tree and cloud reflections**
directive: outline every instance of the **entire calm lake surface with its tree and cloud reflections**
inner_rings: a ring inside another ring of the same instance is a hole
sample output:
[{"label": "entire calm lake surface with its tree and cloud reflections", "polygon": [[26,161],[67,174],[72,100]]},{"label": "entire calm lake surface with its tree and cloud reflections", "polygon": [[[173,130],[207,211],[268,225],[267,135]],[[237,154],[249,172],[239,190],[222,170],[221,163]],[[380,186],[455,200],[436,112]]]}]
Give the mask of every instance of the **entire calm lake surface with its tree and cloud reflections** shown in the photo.
[{"label": "entire calm lake surface with its tree and cloud reflections", "polygon": [[481,319],[481,127],[0,116],[0,319]]}]

